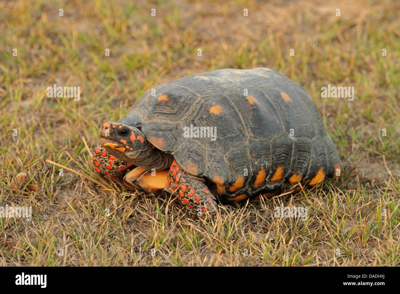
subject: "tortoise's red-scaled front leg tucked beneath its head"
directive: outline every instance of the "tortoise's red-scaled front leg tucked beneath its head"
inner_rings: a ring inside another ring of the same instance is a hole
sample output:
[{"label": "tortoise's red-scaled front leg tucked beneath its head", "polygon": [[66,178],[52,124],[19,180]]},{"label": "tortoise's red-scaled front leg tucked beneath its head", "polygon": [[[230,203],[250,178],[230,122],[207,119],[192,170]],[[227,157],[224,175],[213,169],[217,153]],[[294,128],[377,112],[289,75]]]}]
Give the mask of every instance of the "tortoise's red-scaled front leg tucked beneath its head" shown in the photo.
[{"label": "tortoise's red-scaled front leg tucked beneath its head", "polygon": [[122,180],[126,170],[132,166],[130,163],[114,158],[101,145],[94,149],[92,163],[96,172],[102,177],[110,176],[116,180]]}]

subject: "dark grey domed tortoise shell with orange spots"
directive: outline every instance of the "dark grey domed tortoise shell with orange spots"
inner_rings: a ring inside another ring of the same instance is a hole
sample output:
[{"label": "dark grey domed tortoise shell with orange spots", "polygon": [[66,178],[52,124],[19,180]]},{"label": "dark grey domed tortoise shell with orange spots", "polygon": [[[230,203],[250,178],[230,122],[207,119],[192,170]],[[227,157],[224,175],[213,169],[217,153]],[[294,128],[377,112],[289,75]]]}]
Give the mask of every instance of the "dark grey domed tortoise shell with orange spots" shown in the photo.
[{"label": "dark grey domed tortoise shell with orange spots", "polygon": [[118,122],[139,128],[228,198],[314,185],[342,170],[311,96],[268,68],[214,70],[162,84]]}]

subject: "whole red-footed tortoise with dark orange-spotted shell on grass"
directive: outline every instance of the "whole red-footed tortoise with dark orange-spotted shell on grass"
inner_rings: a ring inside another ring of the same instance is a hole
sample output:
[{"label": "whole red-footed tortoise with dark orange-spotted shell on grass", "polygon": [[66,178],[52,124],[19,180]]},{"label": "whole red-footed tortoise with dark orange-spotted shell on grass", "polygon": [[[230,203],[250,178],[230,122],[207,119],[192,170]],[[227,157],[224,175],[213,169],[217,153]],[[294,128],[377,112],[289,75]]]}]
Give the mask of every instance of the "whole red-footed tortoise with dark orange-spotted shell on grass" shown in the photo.
[{"label": "whole red-footed tortoise with dark orange-spotted shell on grass", "polygon": [[268,68],[213,70],[148,90],[102,125],[92,162],[130,188],[175,194],[199,218],[216,215],[217,199],[296,192],[343,170],[311,96]]}]

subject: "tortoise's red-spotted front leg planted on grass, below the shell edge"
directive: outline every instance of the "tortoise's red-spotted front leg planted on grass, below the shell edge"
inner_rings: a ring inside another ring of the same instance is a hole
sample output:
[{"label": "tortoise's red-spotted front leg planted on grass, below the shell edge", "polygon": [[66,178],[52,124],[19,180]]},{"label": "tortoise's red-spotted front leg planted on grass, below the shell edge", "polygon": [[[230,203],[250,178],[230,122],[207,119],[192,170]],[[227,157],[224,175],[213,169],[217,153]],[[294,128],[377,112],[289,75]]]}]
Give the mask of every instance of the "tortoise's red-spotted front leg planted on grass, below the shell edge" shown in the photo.
[{"label": "tortoise's red-spotted front leg planted on grass, below the shell edge", "polygon": [[206,217],[206,211],[215,217],[218,212],[216,198],[202,178],[188,174],[174,160],[168,172],[168,184],[177,194],[178,199],[199,218]]}]

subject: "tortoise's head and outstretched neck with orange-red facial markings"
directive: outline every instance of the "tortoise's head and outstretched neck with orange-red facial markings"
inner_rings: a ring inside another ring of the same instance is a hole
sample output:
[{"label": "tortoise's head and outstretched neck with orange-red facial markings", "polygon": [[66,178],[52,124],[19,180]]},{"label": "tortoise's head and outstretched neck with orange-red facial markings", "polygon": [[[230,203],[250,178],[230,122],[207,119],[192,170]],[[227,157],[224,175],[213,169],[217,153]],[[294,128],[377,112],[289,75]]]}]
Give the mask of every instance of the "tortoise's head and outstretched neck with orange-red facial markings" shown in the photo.
[{"label": "tortoise's head and outstretched neck with orange-red facial markings", "polygon": [[156,170],[169,168],[172,162],[169,158],[171,155],[155,148],[138,128],[119,122],[106,122],[100,134],[100,144],[119,160]]}]

